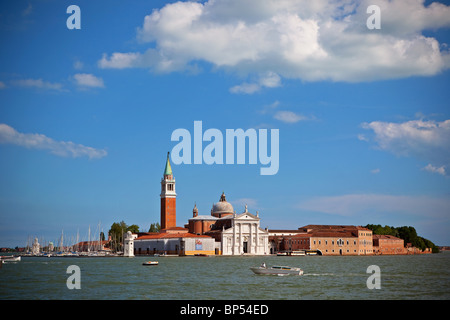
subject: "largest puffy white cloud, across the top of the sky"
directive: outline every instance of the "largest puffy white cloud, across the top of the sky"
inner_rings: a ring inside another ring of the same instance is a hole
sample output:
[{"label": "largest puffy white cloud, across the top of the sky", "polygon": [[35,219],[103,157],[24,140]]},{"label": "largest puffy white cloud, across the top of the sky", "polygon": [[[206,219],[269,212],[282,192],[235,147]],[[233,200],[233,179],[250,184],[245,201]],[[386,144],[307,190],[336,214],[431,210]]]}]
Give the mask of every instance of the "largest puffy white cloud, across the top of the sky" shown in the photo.
[{"label": "largest puffy white cloud, across the top of the sky", "polygon": [[[381,8],[381,30],[366,27],[372,4]],[[176,2],[144,18],[137,39],[146,51],[104,54],[99,66],[173,72],[205,61],[240,75],[306,81],[427,76],[448,69],[450,55],[423,31],[449,26],[449,6],[421,0]],[[230,90],[262,87],[273,86],[247,82]]]}]

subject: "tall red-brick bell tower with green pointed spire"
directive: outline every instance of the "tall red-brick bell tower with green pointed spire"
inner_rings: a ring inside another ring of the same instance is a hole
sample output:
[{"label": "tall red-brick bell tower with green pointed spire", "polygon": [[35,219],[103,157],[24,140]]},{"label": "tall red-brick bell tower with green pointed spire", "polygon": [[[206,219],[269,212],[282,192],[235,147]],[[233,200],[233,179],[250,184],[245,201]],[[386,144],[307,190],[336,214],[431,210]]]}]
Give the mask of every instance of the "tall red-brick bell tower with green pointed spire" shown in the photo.
[{"label": "tall red-brick bell tower with green pointed spire", "polygon": [[161,179],[161,229],[177,226],[177,194],[169,155],[167,152],[166,168],[164,177]]}]

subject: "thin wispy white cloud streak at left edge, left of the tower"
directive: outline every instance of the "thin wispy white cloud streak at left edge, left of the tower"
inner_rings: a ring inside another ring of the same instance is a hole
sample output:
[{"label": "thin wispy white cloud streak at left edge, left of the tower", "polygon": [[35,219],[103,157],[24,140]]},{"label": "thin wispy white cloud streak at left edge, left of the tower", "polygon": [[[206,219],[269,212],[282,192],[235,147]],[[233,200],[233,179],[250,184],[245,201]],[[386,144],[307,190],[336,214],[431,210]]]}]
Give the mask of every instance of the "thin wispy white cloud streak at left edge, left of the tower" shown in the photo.
[{"label": "thin wispy white cloud streak at left edge, left of the tower", "polygon": [[7,124],[0,124],[0,143],[14,144],[28,149],[48,150],[61,157],[96,159],[107,155],[104,149],[95,149],[71,141],[55,141],[39,133],[20,133]]}]

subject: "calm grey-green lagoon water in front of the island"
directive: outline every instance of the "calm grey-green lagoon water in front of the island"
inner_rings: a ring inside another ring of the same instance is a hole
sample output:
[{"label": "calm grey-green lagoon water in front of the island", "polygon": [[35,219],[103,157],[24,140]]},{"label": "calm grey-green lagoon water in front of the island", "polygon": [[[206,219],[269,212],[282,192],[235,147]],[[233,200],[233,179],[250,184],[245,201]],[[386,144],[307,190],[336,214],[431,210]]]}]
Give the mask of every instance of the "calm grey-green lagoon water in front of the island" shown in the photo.
[{"label": "calm grey-green lagoon water in front of the island", "polygon": [[[147,260],[158,266],[142,266]],[[300,266],[303,276],[258,276],[249,267]],[[375,257],[34,258],[0,269],[5,299],[449,299],[450,253]],[[66,286],[81,269],[81,289]],[[381,289],[369,290],[369,265]]]}]

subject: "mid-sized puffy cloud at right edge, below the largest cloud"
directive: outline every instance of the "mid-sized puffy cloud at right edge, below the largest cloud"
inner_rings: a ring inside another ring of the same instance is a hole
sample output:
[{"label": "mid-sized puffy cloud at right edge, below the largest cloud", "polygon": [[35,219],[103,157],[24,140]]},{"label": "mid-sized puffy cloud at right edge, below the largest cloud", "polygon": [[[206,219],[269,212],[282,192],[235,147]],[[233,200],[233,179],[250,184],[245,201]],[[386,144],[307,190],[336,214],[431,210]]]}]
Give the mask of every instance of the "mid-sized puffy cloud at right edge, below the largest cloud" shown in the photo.
[{"label": "mid-sized puffy cloud at right edge, below the largest cloud", "polygon": [[361,126],[374,132],[379,149],[431,162],[427,171],[445,174],[450,165],[450,120],[373,121]]}]

